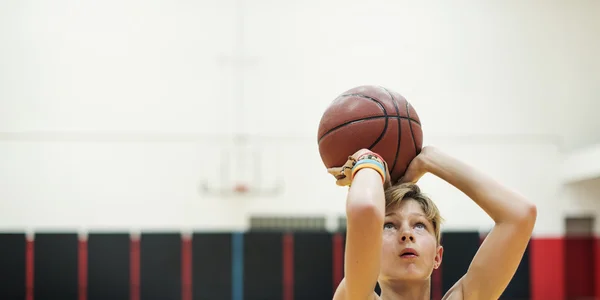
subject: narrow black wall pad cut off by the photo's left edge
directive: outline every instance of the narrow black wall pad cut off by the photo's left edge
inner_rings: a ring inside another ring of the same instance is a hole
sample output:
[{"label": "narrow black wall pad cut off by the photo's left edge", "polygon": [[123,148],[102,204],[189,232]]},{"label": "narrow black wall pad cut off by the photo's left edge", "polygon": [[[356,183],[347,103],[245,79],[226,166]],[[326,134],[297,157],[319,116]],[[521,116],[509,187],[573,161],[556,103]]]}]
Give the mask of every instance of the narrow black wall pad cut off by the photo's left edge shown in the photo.
[{"label": "narrow black wall pad cut off by the photo's left edge", "polygon": [[0,234],[0,299],[25,299],[25,234]]}]

